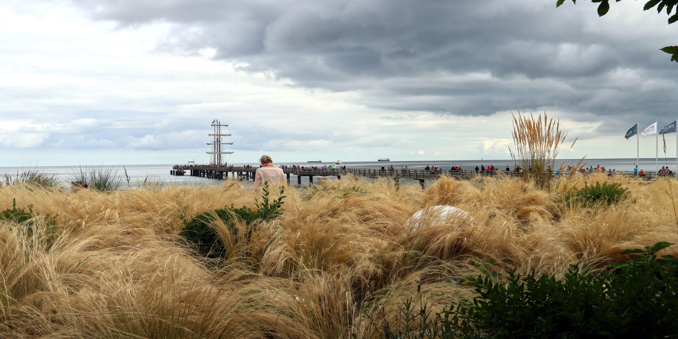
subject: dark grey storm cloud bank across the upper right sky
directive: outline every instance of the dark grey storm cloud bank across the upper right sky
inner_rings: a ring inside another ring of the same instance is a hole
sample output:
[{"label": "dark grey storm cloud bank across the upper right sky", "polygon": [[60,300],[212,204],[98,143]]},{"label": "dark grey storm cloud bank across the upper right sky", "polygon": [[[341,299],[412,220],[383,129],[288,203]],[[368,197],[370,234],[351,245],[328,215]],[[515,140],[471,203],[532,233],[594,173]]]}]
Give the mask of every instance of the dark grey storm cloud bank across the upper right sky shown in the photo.
[{"label": "dark grey storm cloud bank across the upper right sky", "polygon": [[[658,51],[675,42],[666,39],[675,28],[624,28],[633,22],[597,18],[588,2],[558,9],[555,0],[75,2],[123,25],[172,23],[160,48],[213,47],[215,58],[245,71],[358,90],[372,107],[455,115],[546,109],[582,113],[583,121],[612,115],[603,118],[605,133],[637,119],[673,119],[678,103],[678,65]],[[666,22],[657,14],[641,20]]]}]

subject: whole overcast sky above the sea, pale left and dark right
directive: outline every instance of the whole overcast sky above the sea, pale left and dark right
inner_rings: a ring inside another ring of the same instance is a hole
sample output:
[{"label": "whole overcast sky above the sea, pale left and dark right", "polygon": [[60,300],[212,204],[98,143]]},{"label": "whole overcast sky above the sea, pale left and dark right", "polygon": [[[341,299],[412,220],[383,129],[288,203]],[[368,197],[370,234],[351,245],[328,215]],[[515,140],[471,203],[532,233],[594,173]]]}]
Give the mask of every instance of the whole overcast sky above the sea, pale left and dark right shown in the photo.
[{"label": "whole overcast sky above the sea, pale left and dark right", "polygon": [[678,117],[678,24],[555,2],[5,0],[0,166],[207,162],[214,119],[234,163],[509,159],[518,111],[635,157]]}]

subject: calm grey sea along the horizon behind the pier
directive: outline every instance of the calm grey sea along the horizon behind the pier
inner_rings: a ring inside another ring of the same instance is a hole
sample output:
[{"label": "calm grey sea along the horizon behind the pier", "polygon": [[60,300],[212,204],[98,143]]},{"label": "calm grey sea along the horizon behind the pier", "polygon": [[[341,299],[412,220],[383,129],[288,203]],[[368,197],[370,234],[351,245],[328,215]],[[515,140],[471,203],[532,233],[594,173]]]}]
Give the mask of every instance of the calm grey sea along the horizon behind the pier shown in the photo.
[{"label": "calm grey sea along the horizon behind the pier", "polygon": [[[580,159],[566,159],[566,160],[557,160],[555,162],[554,168],[559,167],[561,163],[575,165]],[[636,159],[584,159],[584,163],[596,167],[601,165],[605,169],[616,169],[620,171],[633,171],[635,167]],[[659,167],[668,165],[669,168],[673,169],[675,172],[675,158],[669,159],[659,159]],[[275,165],[300,165],[300,166],[322,166],[322,165],[334,165],[334,161],[328,161],[323,163],[274,163]],[[245,165],[245,163],[233,163],[233,165]],[[249,165],[256,165],[258,163],[249,163]],[[506,165],[509,165],[513,169],[513,160],[444,160],[444,161],[344,161],[342,165],[345,165],[349,168],[381,168],[388,167],[393,165],[395,168],[400,168],[401,166],[407,166],[410,169],[423,169],[428,166],[441,167],[442,169],[450,169],[452,166],[460,166],[462,169],[475,169],[475,166],[485,165],[497,167],[499,169],[505,169]],[[98,167],[98,166],[95,166]],[[117,171],[121,176],[124,176],[125,169],[127,170],[127,175],[130,177],[130,182],[143,182],[144,180],[153,180],[153,181],[163,181],[169,184],[220,184],[220,180],[207,179],[195,176],[171,176],[169,175],[169,170],[172,169],[172,165],[113,165],[113,166],[104,166],[112,167]],[[337,165],[339,167],[339,165]],[[85,166],[83,166],[85,168]],[[646,172],[652,171],[655,169],[655,159],[640,159],[640,169],[644,169]],[[37,166],[37,167],[0,167],[0,178],[4,178],[4,174],[16,176],[17,173],[25,172],[28,170],[38,170],[48,174],[55,174],[63,182],[69,182],[73,174],[79,171],[78,166]],[[296,182],[296,176],[292,176],[292,182]],[[302,176],[302,184],[308,183],[308,177]]]}]

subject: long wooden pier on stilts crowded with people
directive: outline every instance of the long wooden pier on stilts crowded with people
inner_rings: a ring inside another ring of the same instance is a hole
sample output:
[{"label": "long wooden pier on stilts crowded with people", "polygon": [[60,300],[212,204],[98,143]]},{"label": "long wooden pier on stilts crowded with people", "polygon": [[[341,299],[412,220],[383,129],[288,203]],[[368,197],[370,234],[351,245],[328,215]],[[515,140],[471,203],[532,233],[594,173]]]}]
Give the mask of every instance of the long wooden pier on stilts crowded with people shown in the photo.
[{"label": "long wooden pier on stilts crowded with people", "polygon": [[[239,180],[254,180],[254,174],[259,167],[245,167],[245,166],[207,166],[207,165],[174,165],[169,174],[173,176],[201,176],[204,178],[212,179],[227,179],[229,174],[233,178]],[[412,179],[419,180],[420,184],[424,186],[425,180],[435,180],[441,176],[451,176],[459,180],[469,180],[475,178],[476,176],[493,176],[498,175],[499,173],[508,175],[508,176],[522,176],[523,173],[514,172],[514,171],[500,171],[495,170],[492,172],[487,171],[475,171],[468,169],[460,169],[458,171],[450,170],[438,170],[430,171],[427,169],[378,169],[378,168],[326,168],[326,169],[315,169],[315,168],[298,168],[298,167],[280,167],[283,169],[285,176],[287,176],[287,184],[292,184],[290,182],[290,177],[292,175],[297,177],[296,184],[301,185],[301,177],[308,177],[308,184],[313,185],[313,177],[327,177],[327,176],[336,176],[338,179],[341,179],[342,176],[347,174],[352,174],[354,176],[362,176],[366,178],[391,178],[395,181],[396,184],[399,183],[400,179]],[[556,175],[555,173],[553,174]],[[624,176],[635,176],[633,172],[630,173],[617,173],[616,175]],[[645,176],[641,176],[645,180],[654,180],[656,179],[656,173],[654,172],[645,172]]]}]

